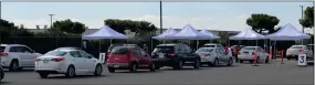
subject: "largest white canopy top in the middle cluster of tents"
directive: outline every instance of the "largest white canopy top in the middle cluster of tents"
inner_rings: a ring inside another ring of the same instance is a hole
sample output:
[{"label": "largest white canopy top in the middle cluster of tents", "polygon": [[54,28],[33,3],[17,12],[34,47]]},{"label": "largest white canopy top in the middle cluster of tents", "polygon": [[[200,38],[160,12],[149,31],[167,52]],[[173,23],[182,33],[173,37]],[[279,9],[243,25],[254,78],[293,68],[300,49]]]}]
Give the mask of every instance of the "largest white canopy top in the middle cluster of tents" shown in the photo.
[{"label": "largest white canopy top in the middle cluster of tents", "polygon": [[195,28],[191,25],[187,24],[186,26],[182,28],[181,31],[166,35],[167,39],[185,39],[185,40],[201,40],[201,39],[210,39],[209,35],[200,33],[197,31]]}]

